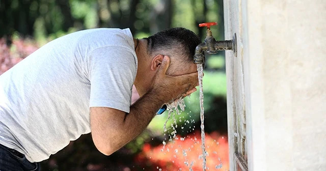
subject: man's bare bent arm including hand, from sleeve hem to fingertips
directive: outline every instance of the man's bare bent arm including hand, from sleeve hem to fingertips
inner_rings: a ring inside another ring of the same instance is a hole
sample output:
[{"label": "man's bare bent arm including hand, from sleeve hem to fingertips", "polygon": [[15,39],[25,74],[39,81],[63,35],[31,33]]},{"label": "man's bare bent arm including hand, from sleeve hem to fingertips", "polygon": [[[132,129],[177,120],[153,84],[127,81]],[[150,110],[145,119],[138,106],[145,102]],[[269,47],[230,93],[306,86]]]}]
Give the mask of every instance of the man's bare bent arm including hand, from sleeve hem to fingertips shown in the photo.
[{"label": "man's bare bent arm including hand, from sleeve hem to fingertips", "polygon": [[162,104],[181,97],[197,86],[197,73],[175,77],[166,75],[169,64],[166,56],[155,75],[151,90],[130,107],[129,113],[108,107],[90,108],[92,137],[101,153],[110,155],[119,150],[147,127]]}]

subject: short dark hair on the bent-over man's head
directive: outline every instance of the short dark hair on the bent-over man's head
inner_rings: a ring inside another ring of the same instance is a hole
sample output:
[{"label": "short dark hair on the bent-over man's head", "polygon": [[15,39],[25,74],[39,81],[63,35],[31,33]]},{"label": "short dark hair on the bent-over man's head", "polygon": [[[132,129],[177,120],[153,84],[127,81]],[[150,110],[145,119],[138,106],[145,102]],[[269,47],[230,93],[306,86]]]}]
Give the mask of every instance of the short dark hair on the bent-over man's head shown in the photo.
[{"label": "short dark hair on the bent-over man's head", "polygon": [[[176,27],[158,32],[148,38],[148,53],[178,55],[185,62],[193,62],[195,49],[201,43],[200,38],[192,31]],[[172,57],[173,58],[173,57]]]}]

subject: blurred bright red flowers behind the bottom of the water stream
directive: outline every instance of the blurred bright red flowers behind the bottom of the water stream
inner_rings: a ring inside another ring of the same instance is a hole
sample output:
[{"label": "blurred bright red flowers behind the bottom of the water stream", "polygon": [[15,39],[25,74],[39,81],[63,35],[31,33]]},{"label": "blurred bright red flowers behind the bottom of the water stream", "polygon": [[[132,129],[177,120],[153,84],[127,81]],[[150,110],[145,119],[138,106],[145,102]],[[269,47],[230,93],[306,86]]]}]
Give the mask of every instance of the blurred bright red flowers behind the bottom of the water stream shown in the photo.
[{"label": "blurred bright red flowers behind the bottom of the water stream", "polygon": [[[217,132],[206,134],[205,146],[208,153],[206,168],[228,170],[227,136]],[[182,170],[189,170],[191,167],[193,170],[202,170],[200,132],[189,134],[186,137],[177,136],[176,139],[168,141],[166,146],[151,147],[149,144],[144,144],[143,153],[140,155],[145,156],[154,169],[179,170],[181,168]]]}]

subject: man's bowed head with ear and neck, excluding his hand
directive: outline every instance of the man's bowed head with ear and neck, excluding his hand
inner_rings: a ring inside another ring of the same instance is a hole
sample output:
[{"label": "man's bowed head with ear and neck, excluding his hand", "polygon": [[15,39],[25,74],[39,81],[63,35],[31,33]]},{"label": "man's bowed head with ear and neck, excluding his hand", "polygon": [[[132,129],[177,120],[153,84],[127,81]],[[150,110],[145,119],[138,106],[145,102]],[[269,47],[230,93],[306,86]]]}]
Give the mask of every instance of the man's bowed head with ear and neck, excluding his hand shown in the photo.
[{"label": "man's bowed head with ear and neck, excluding his hand", "polygon": [[135,40],[138,71],[134,85],[140,96],[149,91],[164,56],[170,58],[166,74],[177,76],[196,72],[194,54],[200,43],[200,38],[194,32],[184,28],[168,29],[148,38]]}]

